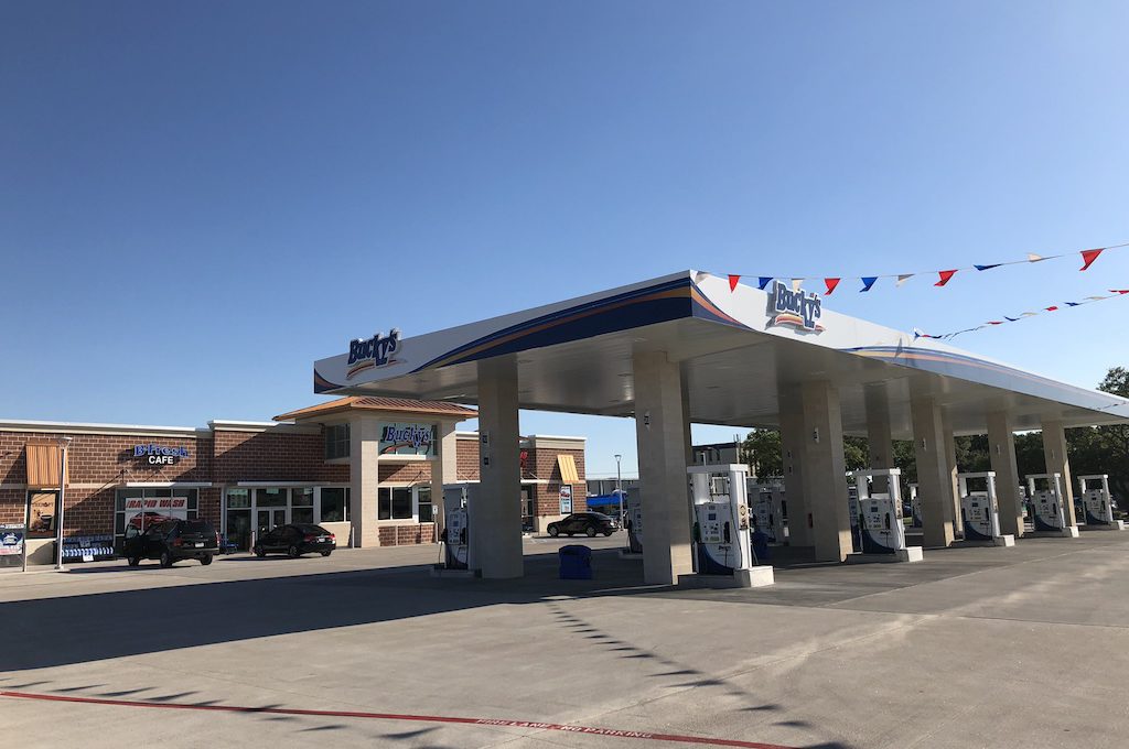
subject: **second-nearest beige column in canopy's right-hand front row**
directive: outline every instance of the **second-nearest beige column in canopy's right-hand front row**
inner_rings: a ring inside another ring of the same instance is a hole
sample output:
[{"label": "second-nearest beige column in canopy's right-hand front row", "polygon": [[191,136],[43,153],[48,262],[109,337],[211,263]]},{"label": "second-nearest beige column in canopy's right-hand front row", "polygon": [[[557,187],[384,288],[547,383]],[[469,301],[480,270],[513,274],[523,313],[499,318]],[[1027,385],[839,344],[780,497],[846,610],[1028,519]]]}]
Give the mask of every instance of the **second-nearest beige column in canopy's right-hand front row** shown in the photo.
[{"label": "second-nearest beige column in canopy's right-hand front row", "polygon": [[804,493],[812,513],[812,541],[817,562],[843,562],[851,552],[847,505],[847,459],[842,411],[830,382],[805,382]]}]

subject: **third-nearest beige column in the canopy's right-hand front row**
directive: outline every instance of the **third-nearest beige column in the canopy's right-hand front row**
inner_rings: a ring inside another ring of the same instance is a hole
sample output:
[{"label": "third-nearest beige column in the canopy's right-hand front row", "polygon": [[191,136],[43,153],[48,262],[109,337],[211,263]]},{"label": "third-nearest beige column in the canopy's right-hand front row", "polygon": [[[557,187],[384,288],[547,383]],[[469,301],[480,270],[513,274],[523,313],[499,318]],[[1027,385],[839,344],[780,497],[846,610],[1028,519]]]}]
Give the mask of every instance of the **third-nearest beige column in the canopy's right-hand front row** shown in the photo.
[{"label": "third-nearest beige column in the canopy's right-hand front row", "polygon": [[913,455],[918,469],[925,546],[953,543],[952,474],[948,470],[940,408],[931,397],[910,403],[913,418]]}]

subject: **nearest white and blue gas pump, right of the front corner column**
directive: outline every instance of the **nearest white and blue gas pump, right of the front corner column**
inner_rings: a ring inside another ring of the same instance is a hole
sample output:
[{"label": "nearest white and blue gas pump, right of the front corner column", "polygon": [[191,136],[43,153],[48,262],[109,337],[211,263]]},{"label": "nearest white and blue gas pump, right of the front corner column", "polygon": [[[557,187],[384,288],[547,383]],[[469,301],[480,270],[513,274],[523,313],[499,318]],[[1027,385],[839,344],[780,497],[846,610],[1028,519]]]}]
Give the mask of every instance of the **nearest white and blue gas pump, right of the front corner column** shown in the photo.
[{"label": "nearest white and blue gas pump, right of the front corner column", "polygon": [[732,578],[744,588],[772,584],[772,567],[756,566],[750,546],[749,467],[689,466],[686,473],[694,510],[698,575]]}]

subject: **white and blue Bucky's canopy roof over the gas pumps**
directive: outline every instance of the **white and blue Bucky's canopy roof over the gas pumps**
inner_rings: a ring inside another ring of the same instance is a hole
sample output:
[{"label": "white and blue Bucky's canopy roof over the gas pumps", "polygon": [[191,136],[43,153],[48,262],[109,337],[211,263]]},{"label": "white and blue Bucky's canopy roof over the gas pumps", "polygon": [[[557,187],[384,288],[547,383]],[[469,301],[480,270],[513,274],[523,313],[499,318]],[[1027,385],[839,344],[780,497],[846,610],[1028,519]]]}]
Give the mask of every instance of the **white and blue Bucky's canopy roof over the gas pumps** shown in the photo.
[{"label": "white and blue Bucky's canopy roof over the gas pumps", "polygon": [[684,271],[535,309],[400,338],[353,341],[314,364],[314,389],[476,404],[478,362],[516,359],[522,408],[634,415],[632,360],[665,351],[682,365],[690,421],[779,426],[778,394],[806,381],[839,391],[843,431],[866,435],[867,391],[884,393],[892,435],[911,439],[910,403],[931,397],[957,434],[1129,421],[1129,400],[822,309],[819,296]]}]

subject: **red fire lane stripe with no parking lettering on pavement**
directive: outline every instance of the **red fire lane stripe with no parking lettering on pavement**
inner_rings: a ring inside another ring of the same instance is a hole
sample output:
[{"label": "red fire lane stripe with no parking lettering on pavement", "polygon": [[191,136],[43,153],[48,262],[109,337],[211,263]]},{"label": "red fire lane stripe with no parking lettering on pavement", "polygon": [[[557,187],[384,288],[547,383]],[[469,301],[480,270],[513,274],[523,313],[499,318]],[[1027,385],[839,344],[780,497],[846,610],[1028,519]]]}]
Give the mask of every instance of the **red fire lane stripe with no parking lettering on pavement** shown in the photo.
[{"label": "red fire lane stripe with no parking lettering on pavement", "polygon": [[460,723],[463,725],[493,725],[502,728],[541,729],[543,731],[563,731],[566,733],[584,733],[588,735],[607,735],[618,739],[642,739],[650,741],[668,741],[674,743],[699,743],[710,747],[741,747],[742,749],[796,749],[778,743],[760,743],[741,741],[738,739],[711,739],[699,735],[677,735],[674,733],[649,733],[647,731],[622,731],[619,729],[598,729],[585,725],[566,725],[563,723],[539,723],[535,721],[509,721],[489,717],[452,717],[449,715],[401,715],[397,713],[362,713],[341,710],[299,710],[297,707],[246,707],[240,705],[192,705],[189,703],[151,703],[134,699],[105,699],[103,697],[77,697],[73,695],[42,695],[30,691],[0,690],[0,697],[16,699],[38,699],[43,702],[80,703],[84,705],[111,705],[114,707],[152,707],[158,710],[196,710],[213,713],[265,713],[269,715],[310,715],[315,717],[360,717],[376,721],[410,721],[415,723]]}]

